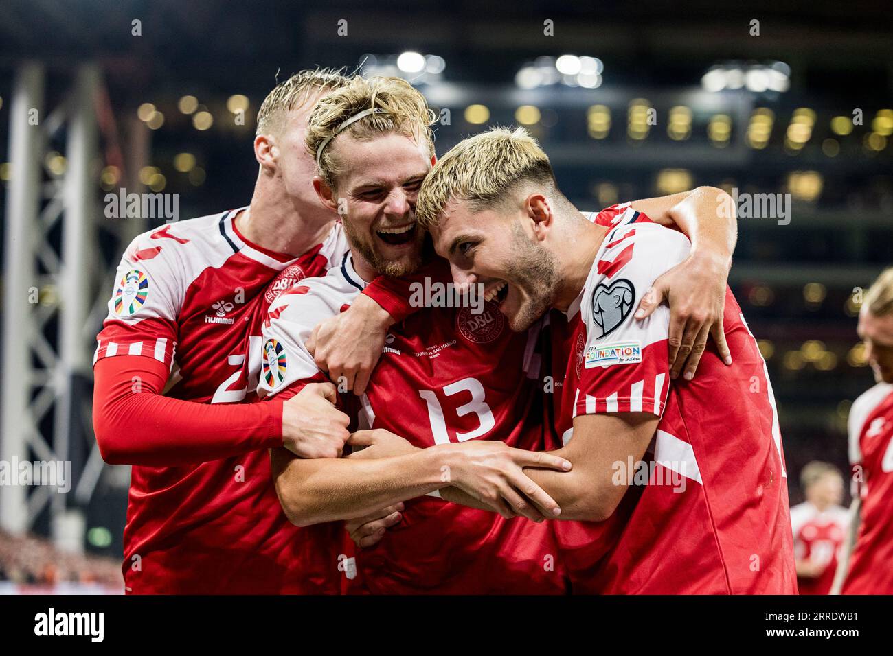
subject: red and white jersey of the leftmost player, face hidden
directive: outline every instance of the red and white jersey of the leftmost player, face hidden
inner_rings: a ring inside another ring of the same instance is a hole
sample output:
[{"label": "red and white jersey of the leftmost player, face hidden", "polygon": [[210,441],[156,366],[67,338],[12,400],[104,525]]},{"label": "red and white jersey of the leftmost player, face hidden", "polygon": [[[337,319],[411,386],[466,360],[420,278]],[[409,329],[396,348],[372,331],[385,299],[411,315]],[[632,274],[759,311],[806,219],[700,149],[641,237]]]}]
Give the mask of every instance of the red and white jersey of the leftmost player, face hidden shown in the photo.
[{"label": "red and white jersey of the leftmost player, face hidden", "polygon": [[[244,208],[243,208],[244,209]],[[340,262],[336,223],[293,258],[241,237],[240,210],[154,229],[118,267],[96,360],[141,355],[171,367],[166,394],[198,403],[256,399],[261,323],[284,288]],[[281,511],[266,449],[179,467],[134,466],[124,529],[133,593],[338,592],[323,554]]]}]

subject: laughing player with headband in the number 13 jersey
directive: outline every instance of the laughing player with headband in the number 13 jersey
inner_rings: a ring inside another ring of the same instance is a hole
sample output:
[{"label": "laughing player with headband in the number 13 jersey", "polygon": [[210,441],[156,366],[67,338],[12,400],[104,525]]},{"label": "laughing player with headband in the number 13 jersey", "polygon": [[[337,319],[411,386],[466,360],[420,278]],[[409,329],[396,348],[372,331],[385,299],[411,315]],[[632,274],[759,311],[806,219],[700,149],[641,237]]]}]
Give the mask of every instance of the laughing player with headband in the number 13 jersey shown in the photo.
[{"label": "laughing player with headband in the number 13 jersey", "polygon": [[[407,115],[411,118],[407,119]],[[265,336],[286,344],[288,361],[296,362],[289,365],[286,383],[271,388],[271,394],[279,394],[289,383],[299,386],[314,379],[320,373],[316,364],[325,369],[319,349],[314,362],[302,344],[321,319],[316,312],[336,314],[350,302],[363,280],[376,273],[396,276],[418,267],[424,231],[415,221],[414,203],[421,179],[433,161],[430,120],[421,94],[398,79],[357,79],[350,87],[328,96],[314,110],[307,136],[308,148],[320,169],[314,186],[323,203],[342,213],[352,257],[341,274],[309,284],[299,295],[283,298],[281,304],[285,307],[281,311],[278,304],[271,307],[271,315],[276,316],[271,318],[271,329]],[[669,203],[668,207],[675,204]],[[396,281],[396,290],[405,284],[405,280]],[[405,295],[397,296],[405,305]],[[491,440],[505,440],[527,449],[542,448],[538,419],[530,416],[531,405],[539,403],[531,403],[538,395],[538,386],[525,377],[522,369],[524,353],[529,353],[528,337],[511,336],[495,308],[490,308],[489,316],[494,318],[490,325],[498,328],[486,335],[476,335],[469,329],[472,324],[463,322],[467,320],[463,320],[461,312],[441,309],[421,310],[392,328],[387,353],[371,385],[365,386],[363,397],[363,416],[371,420],[374,428],[385,428],[387,432],[363,436],[363,440],[373,444],[372,449],[361,452],[363,458],[414,453],[419,449],[431,452],[444,446],[505,453],[502,445],[487,444]],[[481,349],[480,344],[486,346]],[[432,345],[447,346],[430,353]],[[416,357],[392,357],[398,353],[416,353]],[[516,354],[507,357],[509,353]],[[437,360],[433,360],[435,356]],[[432,364],[418,364],[428,359]],[[470,363],[476,363],[473,375]],[[506,386],[506,380],[513,381],[513,386]],[[472,395],[471,404],[467,403],[467,394]],[[392,434],[405,435],[412,444],[395,440]],[[473,437],[481,439],[451,444]],[[541,577],[536,575],[542,572],[541,562],[530,568],[531,561],[538,561],[531,556],[550,548],[547,533],[522,541],[532,553],[513,552],[505,542],[505,532],[524,530],[523,525],[503,527],[500,522],[505,519],[430,498],[406,502],[405,513],[394,509],[382,520],[367,522],[368,518],[358,515],[363,508],[380,507],[376,502],[406,501],[411,498],[407,494],[413,490],[417,493],[417,469],[410,461],[404,465],[402,476],[396,478],[391,471],[396,467],[394,463],[378,463],[381,478],[372,477],[365,469],[363,486],[355,485],[361,479],[360,469],[352,468],[349,462],[298,461],[281,452],[274,461],[274,469],[279,472],[280,500],[293,521],[306,524],[351,519],[349,527],[363,546],[378,541],[385,527],[395,527],[387,544],[380,544],[369,557],[360,554],[362,575],[373,592],[445,592],[447,579],[456,586],[451,588],[454,592],[555,591],[560,576],[548,577],[547,584],[538,584]],[[363,463],[365,468],[371,466]],[[494,480],[517,476],[516,463],[505,461],[504,467],[507,469],[494,464],[490,468]],[[450,469],[461,474],[467,467]],[[395,482],[401,486],[394,487]],[[455,483],[459,488],[469,485]],[[479,500],[478,507],[500,511],[504,518],[515,512],[531,519],[555,516],[551,500],[544,503],[538,497],[524,499],[512,487],[536,489],[529,482],[515,482],[509,487],[497,483],[484,488],[483,494],[479,490],[471,495]],[[448,497],[454,492],[443,494]],[[485,499],[487,502],[482,502]],[[423,526],[419,518],[427,518]],[[467,530],[450,532],[445,528],[460,525]],[[480,537],[486,535],[493,536],[493,540]],[[502,556],[487,557],[496,552]],[[452,569],[442,571],[432,562],[443,566],[452,563]],[[486,576],[481,567],[488,568],[491,576]],[[506,569],[515,569],[515,576],[503,576]],[[503,581],[502,588],[492,587],[497,579]],[[511,579],[515,582],[505,582]],[[524,580],[528,587],[517,587]],[[408,581],[416,584],[408,585]]]}]

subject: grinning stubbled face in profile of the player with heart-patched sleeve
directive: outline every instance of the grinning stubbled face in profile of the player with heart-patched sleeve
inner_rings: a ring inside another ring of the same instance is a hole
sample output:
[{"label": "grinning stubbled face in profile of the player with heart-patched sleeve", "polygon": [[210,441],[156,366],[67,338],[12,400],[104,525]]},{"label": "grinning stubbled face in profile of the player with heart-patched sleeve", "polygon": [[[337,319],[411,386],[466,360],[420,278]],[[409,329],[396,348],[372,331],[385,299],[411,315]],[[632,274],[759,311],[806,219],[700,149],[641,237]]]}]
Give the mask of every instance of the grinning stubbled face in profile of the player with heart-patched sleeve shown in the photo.
[{"label": "grinning stubbled face in profile of the player with heart-patched sleeve", "polygon": [[497,304],[515,332],[530,328],[555,303],[555,255],[521,207],[475,212],[468,201],[450,202],[430,231],[455,284],[483,285],[484,298]]}]

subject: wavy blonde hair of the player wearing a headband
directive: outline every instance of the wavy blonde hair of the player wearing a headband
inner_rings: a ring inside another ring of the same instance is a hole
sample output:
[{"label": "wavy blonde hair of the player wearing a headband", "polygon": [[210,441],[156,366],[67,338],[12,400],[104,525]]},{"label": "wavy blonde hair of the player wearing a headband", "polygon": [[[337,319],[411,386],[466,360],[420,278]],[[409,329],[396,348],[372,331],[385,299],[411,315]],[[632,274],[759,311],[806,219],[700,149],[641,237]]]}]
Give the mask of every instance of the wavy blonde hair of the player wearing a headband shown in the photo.
[{"label": "wavy blonde hair of the player wearing a headband", "polygon": [[[356,120],[342,129],[342,123],[364,110],[380,110]],[[416,141],[423,140],[430,154],[434,155],[434,137],[431,125],[434,112],[428,107],[425,96],[402,78],[355,76],[337,91],[322,98],[310,115],[305,145],[319,163],[320,176],[330,187],[341,167],[332,154],[335,137],[349,134],[360,140],[369,140],[386,134],[403,134]],[[321,152],[320,152],[321,151]]]}]

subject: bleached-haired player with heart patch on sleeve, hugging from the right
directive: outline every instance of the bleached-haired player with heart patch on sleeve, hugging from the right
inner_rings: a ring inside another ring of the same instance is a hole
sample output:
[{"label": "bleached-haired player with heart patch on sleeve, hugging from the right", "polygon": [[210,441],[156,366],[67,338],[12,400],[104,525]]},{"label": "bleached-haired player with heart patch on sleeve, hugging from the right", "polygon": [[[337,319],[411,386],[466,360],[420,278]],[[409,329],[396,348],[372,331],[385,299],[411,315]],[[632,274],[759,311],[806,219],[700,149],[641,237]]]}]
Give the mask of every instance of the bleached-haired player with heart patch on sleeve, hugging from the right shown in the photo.
[{"label": "bleached-haired player with heart patch on sleeve, hugging from the right", "polygon": [[564,376],[550,453],[573,467],[528,473],[561,507],[557,519],[579,520],[555,526],[575,586],[797,593],[772,385],[734,296],[726,287],[720,323],[734,362],[711,345],[694,379],[671,377],[669,308],[635,312],[692,247],[649,217],[719,212],[718,197],[701,188],[592,220],[524,129],[463,140],[421,186],[418,220],[455,284],[483,285],[513,330],[545,313],[570,328],[552,339]]}]

